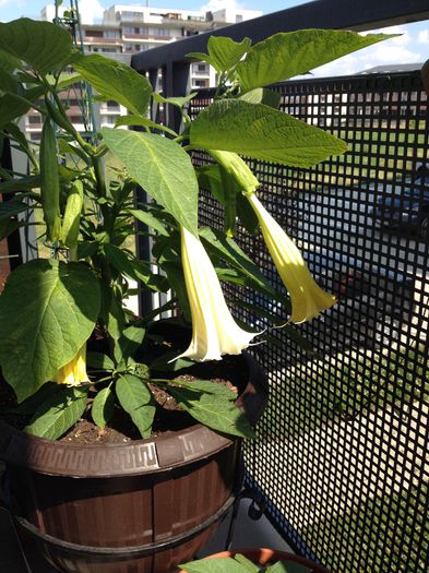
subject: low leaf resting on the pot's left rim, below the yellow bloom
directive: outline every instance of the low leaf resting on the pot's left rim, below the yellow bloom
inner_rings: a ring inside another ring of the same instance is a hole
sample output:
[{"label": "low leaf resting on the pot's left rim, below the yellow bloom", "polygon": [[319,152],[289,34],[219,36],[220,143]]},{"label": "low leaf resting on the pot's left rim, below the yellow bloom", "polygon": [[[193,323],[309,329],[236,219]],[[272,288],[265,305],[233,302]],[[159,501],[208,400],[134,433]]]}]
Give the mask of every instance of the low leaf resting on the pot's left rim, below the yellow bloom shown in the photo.
[{"label": "low leaf resting on the pot's left rim, below the yellow bloom", "polygon": [[59,386],[59,391],[38,408],[24,429],[32,435],[46,440],[57,440],[85,411],[87,389]]}]

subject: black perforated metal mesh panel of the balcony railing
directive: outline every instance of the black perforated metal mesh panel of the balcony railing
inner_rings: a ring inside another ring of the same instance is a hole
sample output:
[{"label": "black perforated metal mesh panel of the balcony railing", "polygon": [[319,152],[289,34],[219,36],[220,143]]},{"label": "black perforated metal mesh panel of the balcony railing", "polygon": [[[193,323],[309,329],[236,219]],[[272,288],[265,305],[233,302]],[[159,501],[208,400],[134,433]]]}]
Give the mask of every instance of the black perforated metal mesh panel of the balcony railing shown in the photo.
[{"label": "black perforated metal mesh panel of the balcony railing", "polygon": [[[348,142],[313,169],[252,162],[260,198],[338,302],[254,347],[271,381],[252,480],[295,547],[336,573],[428,571],[428,107],[419,76],[288,82],[282,109]],[[194,102],[196,108],[208,103]],[[202,156],[195,157],[203,162]],[[429,168],[429,167],[428,167]],[[221,213],[206,193],[201,224]],[[260,237],[241,239],[276,286]],[[231,286],[228,297],[240,296]],[[235,307],[250,323],[252,315]]]}]

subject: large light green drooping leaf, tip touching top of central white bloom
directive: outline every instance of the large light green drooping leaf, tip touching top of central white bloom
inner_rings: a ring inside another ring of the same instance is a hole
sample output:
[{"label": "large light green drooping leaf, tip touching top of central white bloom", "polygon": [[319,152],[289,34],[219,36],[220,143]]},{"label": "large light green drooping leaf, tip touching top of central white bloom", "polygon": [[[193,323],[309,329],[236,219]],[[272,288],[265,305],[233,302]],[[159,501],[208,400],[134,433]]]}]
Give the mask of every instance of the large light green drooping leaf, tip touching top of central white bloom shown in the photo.
[{"label": "large light green drooping leaf, tip touching top of central white bloom", "polygon": [[189,155],[171,140],[104,128],[109,150],[130,176],[183,227],[198,232],[196,177]]}]

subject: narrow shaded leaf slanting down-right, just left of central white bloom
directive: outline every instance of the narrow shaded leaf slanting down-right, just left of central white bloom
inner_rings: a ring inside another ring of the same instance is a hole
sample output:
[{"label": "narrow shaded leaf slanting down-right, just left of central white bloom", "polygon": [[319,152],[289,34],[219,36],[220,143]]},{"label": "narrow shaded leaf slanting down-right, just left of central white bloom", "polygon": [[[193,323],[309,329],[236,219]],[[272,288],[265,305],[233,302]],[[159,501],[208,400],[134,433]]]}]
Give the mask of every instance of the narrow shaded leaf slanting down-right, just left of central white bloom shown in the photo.
[{"label": "narrow shaded leaf slanting down-right, just left of central white bloom", "polygon": [[142,280],[148,288],[155,291],[162,290],[165,293],[168,289],[168,285],[165,284],[165,278],[155,275],[148,264],[140,261],[133,254],[110,243],[104,244],[103,248],[109,263],[123,275],[134,280]]}]

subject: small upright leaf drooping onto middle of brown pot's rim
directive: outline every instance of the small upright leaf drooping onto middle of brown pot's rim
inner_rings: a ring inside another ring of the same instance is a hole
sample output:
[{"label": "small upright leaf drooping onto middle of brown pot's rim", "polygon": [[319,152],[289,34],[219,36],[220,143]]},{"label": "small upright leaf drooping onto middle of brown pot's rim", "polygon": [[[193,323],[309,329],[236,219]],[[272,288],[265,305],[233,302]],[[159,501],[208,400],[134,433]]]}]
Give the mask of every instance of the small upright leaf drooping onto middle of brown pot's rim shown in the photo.
[{"label": "small upright leaf drooping onto middle of brown pot's rim", "polygon": [[142,438],[150,438],[155,406],[147,385],[133,374],[124,374],[115,387],[120,405],[131,416]]}]

